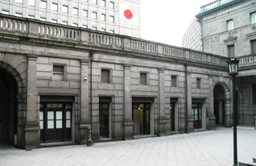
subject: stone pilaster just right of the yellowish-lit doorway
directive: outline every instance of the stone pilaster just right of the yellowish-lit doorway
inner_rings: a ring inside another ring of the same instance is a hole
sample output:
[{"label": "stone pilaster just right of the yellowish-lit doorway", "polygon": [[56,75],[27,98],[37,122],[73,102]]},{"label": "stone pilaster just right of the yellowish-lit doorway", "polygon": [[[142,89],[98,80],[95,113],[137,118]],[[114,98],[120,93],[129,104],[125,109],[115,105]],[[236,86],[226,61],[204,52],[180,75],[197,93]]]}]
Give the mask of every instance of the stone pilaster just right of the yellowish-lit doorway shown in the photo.
[{"label": "stone pilaster just right of the yellowish-lit doorway", "polygon": [[166,117],[165,117],[165,95],[164,95],[164,69],[158,69],[159,73],[159,135],[164,135],[165,134],[165,124],[167,123]]}]

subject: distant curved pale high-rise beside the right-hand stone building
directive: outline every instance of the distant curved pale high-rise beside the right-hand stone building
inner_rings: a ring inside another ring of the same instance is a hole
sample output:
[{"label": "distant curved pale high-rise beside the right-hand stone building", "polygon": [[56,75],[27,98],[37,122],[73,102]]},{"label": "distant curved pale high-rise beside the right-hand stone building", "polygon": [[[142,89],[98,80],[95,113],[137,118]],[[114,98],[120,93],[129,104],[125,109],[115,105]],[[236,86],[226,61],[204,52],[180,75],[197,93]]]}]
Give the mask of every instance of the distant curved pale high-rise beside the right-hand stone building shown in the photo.
[{"label": "distant curved pale high-rise beside the right-hand stone building", "polygon": [[189,25],[188,29],[182,35],[182,47],[202,51],[201,37],[202,34],[200,23],[197,22],[196,18],[194,18],[191,25]]}]

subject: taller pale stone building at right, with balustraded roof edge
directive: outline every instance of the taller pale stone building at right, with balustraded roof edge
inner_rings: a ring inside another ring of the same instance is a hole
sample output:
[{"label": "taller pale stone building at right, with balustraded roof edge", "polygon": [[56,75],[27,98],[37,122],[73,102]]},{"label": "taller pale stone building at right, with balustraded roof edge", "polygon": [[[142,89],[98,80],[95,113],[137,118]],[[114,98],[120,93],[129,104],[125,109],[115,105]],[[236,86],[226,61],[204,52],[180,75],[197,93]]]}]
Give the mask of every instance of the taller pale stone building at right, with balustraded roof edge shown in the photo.
[{"label": "taller pale stone building at right, with balustraded roof edge", "polygon": [[[203,52],[227,58],[239,58],[239,65],[255,63],[255,0],[213,1],[201,7],[197,20],[202,29]],[[239,124],[254,125],[256,115],[254,72],[255,67],[251,65],[239,70],[236,82]]]}]

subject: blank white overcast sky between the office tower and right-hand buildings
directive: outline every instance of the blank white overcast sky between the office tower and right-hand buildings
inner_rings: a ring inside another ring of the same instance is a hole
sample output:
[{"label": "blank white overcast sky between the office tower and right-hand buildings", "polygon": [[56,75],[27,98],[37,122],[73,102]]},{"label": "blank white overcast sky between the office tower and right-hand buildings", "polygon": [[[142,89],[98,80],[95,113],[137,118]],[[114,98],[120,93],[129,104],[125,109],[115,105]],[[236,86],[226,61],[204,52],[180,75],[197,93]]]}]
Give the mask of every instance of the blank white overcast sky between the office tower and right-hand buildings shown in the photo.
[{"label": "blank white overcast sky between the office tower and right-hand buildings", "polygon": [[200,7],[213,0],[140,0],[141,37],[181,46],[182,35]]}]

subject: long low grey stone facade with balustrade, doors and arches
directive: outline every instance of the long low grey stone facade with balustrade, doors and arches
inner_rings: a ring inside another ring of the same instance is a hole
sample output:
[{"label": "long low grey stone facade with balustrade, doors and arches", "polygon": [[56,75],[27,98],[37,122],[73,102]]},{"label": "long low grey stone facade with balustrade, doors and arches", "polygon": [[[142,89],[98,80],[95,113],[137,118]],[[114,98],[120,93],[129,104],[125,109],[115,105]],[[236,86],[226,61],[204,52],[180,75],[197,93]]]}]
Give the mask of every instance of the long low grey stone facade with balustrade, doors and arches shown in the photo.
[{"label": "long low grey stone facade with balustrade, doors and arches", "polygon": [[[85,144],[91,127],[93,140],[101,141],[231,126],[226,61],[139,38],[0,14],[0,141],[31,149]],[[222,103],[216,105],[216,99]],[[216,107],[224,108],[222,119]]]}]

